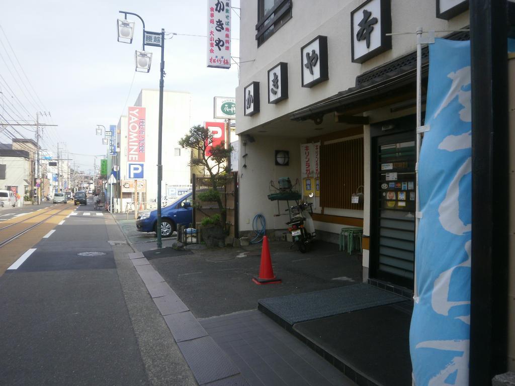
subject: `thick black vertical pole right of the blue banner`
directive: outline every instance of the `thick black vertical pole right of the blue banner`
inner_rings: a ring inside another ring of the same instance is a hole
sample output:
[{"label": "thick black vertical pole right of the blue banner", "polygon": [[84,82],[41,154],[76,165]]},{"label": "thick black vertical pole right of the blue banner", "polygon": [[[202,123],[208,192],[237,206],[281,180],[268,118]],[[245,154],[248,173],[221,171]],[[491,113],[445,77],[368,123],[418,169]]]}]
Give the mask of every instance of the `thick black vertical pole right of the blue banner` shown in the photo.
[{"label": "thick black vertical pole right of the blue banner", "polygon": [[507,367],[508,70],[506,2],[470,0],[472,270],[470,385]]}]

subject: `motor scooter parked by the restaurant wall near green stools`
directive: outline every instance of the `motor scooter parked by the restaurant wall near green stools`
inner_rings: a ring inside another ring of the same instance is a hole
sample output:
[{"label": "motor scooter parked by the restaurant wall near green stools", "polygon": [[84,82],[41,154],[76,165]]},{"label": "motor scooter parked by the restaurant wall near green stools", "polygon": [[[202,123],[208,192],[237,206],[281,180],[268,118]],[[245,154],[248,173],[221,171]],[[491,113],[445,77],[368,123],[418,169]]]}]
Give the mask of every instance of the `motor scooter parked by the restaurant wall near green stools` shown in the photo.
[{"label": "motor scooter parked by the restaurant wall near green stools", "polygon": [[311,218],[312,205],[311,202],[303,202],[286,209],[290,211],[290,220],[286,224],[288,225],[288,232],[291,232],[291,247],[297,244],[299,251],[302,253],[307,251],[316,236],[315,224]]}]

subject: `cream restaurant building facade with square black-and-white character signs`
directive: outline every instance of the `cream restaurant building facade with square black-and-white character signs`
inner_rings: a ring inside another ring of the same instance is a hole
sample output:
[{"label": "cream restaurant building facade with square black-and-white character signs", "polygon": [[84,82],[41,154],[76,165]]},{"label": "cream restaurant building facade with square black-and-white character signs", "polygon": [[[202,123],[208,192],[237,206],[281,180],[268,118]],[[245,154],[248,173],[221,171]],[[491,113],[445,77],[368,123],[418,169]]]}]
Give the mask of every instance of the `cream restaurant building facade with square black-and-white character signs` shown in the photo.
[{"label": "cream restaurant building facade with square black-and-white character signs", "polygon": [[[506,7],[513,11],[512,5]],[[481,16],[475,14],[476,21]],[[497,22],[505,23],[501,19]],[[512,26],[513,20],[508,23]],[[471,24],[468,1],[329,0],[322,5],[307,0],[259,0],[242,4],[242,63],[236,89],[240,231],[252,231],[251,219],[260,213],[267,230],[284,232],[285,217],[274,214],[284,213],[285,203],[278,209],[267,195],[279,178],[289,177],[303,199],[313,202],[317,237],[337,242],[345,227],[363,227],[364,282],[413,291],[415,224],[420,216],[416,207],[416,31],[423,31],[423,119],[428,45],[434,37],[469,40]],[[513,34],[512,27],[509,33]],[[487,47],[490,41],[476,39],[475,44],[481,43]],[[509,79],[511,85],[512,72]],[[513,141],[513,135],[510,138]],[[278,162],[281,151],[289,162]],[[499,204],[513,207],[512,191],[509,197],[509,203]],[[512,226],[509,234],[513,264]],[[513,275],[510,283],[511,326]],[[478,331],[476,342],[477,336]],[[479,351],[476,347],[475,353]],[[507,358],[508,369],[513,370],[512,334]]]}]

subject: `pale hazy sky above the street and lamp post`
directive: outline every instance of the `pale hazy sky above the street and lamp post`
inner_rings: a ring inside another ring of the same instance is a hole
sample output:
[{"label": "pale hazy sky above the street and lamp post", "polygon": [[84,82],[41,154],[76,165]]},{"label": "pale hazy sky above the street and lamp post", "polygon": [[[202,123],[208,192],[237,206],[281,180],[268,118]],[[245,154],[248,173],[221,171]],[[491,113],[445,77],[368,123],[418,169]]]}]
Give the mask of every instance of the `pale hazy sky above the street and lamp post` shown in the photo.
[{"label": "pale hazy sky above the street and lamp post", "polygon": [[[231,55],[239,61],[239,0],[232,6]],[[161,48],[147,47],[153,53],[150,73],[135,73],[143,26],[128,15],[135,21],[134,39],[119,43],[120,10],[139,14],[146,30],[176,33],[165,40],[164,88],[191,93],[191,125],[212,120],[214,96],[234,97],[237,65],[207,67],[207,0],[2,0],[0,122],[24,126],[4,129],[0,143],[11,143],[13,136],[34,139],[34,126],[26,125],[41,112],[41,123],[58,125],[43,129],[42,147],[56,155],[59,144],[79,171],[93,172],[106,154],[97,125],[116,125],[141,89],[159,88]]]}]

